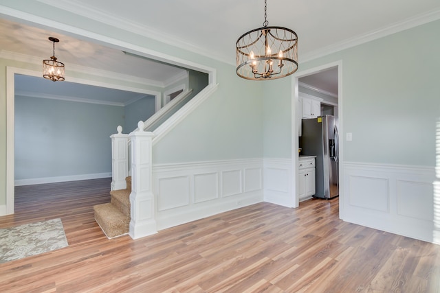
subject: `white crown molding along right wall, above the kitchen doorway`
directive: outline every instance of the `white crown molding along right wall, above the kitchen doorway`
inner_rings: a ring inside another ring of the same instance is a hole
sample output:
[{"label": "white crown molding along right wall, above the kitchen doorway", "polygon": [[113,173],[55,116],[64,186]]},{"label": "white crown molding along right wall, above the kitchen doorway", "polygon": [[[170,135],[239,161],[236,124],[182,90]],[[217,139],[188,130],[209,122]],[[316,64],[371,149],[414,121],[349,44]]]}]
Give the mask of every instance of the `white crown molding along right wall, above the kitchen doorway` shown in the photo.
[{"label": "white crown molding along right wall, above the kitchen doorway", "polygon": [[382,27],[379,30],[374,30],[372,32],[367,32],[366,34],[362,34],[360,36],[355,36],[353,38],[348,38],[347,40],[342,40],[342,42],[323,47],[316,51],[311,51],[306,54],[302,54],[300,56],[301,62],[307,62],[310,60],[314,60],[316,58],[320,58],[337,51],[342,51],[344,49],[348,49],[350,47],[355,47],[357,45],[361,45],[363,43],[367,43],[371,40],[376,40],[377,38],[382,38],[384,36],[389,36],[391,34],[395,34],[397,32],[401,32],[404,30],[408,30],[412,27],[417,27],[418,25],[423,25],[425,23],[430,23],[431,21],[437,21],[440,19],[440,9],[432,10],[430,12],[417,14],[415,16],[410,17],[404,21],[399,21],[397,23],[393,23],[386,27]]}]

